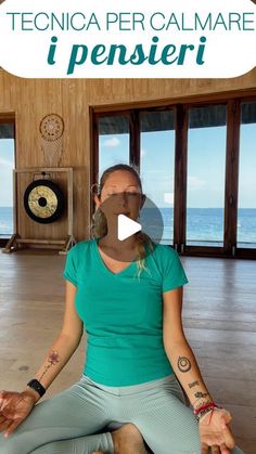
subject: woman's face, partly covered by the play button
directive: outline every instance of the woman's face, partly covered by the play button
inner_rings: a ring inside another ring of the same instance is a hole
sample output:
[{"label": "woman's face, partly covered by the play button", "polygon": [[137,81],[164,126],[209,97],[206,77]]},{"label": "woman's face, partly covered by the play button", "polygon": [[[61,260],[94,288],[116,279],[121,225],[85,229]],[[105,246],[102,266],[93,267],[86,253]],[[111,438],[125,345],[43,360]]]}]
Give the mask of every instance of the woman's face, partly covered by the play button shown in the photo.
[{"label": "woman's face, partly covered by the play button", "polygon": [[114,222],[118,215],[125,215],[136,221],[144,199],[137,178],[125,170],[112,172],[102,187],[101,196],[94,197],[97,207],[101,208],[107,221]]}]

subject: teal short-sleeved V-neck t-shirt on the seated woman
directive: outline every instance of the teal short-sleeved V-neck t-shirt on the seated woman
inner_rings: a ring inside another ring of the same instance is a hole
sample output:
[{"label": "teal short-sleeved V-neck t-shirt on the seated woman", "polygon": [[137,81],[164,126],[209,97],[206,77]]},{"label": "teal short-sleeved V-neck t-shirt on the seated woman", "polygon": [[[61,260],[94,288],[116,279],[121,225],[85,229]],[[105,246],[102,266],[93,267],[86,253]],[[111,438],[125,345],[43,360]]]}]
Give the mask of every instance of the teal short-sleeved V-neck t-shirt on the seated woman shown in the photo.
[{"label": "teal short-sleeved V-neck t-shirt on the seated woman", "polygon": [[163,291],[187,284],[180,258],[154,245],[138,277],[137,262],[114,274],[98,241],[77,243],[67,254],[64,278],[77,286],[75,307],[87,332],[84,374],[106,386],[129,386],[174,369],[163,345]]}]

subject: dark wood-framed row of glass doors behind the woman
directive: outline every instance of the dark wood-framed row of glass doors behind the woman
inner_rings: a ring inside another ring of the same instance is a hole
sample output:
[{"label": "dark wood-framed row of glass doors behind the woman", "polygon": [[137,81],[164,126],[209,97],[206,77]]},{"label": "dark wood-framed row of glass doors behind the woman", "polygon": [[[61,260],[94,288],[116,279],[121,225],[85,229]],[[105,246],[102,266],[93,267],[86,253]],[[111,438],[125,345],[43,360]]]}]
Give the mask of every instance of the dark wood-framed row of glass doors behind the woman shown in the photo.
[{"label": "dark wood-framed row of glass doors behind the woman", "polygon": [[141,223],[154,241],[184,255],[256,258],[255,92],[112,106],[93,124],[93,180],[118,163],[138,166]]}]

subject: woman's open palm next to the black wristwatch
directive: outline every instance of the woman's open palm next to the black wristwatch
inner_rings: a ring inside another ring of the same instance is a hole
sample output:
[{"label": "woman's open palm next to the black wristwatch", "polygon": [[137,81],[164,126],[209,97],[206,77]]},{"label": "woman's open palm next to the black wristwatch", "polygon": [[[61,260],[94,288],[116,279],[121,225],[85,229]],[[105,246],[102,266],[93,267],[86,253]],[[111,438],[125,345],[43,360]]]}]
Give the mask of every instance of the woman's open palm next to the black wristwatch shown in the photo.
[{"label": "woman's open palm next to the black wristwatch", "polygon": [[37,402],[29,391],[0,391],[0,432],[9,437],[29,415]]}]

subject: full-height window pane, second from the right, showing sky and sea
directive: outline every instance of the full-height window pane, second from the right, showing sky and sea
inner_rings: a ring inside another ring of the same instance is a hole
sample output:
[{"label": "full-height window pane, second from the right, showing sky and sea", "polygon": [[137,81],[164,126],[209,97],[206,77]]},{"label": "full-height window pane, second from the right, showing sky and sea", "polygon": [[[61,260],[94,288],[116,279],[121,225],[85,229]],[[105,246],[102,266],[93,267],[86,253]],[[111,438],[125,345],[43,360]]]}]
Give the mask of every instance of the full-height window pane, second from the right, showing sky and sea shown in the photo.
[{"label": "full-height window pane, second from the right, showing sky and sea", "polygon": [[226,106],[189,112],[187,245],[222,246]]}]

